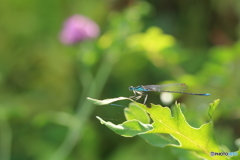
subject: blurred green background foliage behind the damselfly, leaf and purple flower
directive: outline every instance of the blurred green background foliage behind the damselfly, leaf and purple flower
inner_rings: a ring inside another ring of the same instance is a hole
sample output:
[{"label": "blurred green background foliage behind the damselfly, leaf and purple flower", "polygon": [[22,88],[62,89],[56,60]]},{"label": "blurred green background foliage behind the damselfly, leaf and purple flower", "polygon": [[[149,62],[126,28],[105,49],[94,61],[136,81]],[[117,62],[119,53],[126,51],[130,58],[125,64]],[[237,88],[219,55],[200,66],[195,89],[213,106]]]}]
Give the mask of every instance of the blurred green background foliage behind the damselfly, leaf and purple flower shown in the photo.
[{"label": "blurred green background foliage behind the damselfly, leaf and purple flower", "polygon": [[[177,82],[211,96],[176,94],[167,105],[181,102],[199,127],[209,120],[208,104],[220,99],[215,134],[226,151],[236,151],[239,11],[238,0],[0,1],[0,159],[180,159],[184,151],[120,137],[95,118],[121,123],[122,107],[86,101]],[[62,44],[63,22],[73,14],[94,20],[100,36]],[[148,102],[165,105],[156,93]]]}]

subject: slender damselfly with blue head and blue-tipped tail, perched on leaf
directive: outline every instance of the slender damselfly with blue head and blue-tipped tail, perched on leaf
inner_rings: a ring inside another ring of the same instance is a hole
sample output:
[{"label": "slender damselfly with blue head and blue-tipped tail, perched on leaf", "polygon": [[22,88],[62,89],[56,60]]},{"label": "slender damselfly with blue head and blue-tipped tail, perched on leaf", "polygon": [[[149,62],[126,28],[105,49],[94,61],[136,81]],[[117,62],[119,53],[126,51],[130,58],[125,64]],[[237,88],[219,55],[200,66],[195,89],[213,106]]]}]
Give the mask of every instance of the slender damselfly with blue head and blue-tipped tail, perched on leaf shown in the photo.
[{"label": "slender damselfly with blue head and blue-tipped tail, perched on leaf", "polygon": [[145,96],[144,103],[146,103],[148,94],[147,92],[169,92],[169,93],[181,93],[181,94],[189,94],[196,96],[210,96],[209,93],[188,93],[184,92],[187,90],[188,85],[185,83],[171,83],[171,84],[162,84],[162,85],[141,85],[137,87],[130,86],[129,90],[133,91],[134,96],[130,98],[138,100],[141,97]]}]

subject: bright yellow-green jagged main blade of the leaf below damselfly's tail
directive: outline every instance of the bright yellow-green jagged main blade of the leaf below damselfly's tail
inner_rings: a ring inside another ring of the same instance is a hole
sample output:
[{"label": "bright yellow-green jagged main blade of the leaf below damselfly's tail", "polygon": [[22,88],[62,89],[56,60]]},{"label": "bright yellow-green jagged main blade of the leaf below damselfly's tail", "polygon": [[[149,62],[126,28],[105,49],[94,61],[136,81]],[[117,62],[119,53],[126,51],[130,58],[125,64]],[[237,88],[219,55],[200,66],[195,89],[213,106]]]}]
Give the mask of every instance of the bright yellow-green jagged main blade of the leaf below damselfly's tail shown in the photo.
[{"label": "bright yellow-green jagged main blade of the leaf below damselfly's tail", "polygon": [[[214,105],[217,102],[215,101]],[[214,137],[212,121],[203,124],[200,128],[194,128],[187,123],[179,104],[175,105],[173,116],[168,107],[152,104],[151,108],[147,108],[143,104],[138,105],[146,110],[154,121],[154,129],[147,133],[168,133],[180,143],[179,146],[173,146],[196,151],[198,155],[207,159],[216,159],[210,156],[210,152],[221,152]]]}]

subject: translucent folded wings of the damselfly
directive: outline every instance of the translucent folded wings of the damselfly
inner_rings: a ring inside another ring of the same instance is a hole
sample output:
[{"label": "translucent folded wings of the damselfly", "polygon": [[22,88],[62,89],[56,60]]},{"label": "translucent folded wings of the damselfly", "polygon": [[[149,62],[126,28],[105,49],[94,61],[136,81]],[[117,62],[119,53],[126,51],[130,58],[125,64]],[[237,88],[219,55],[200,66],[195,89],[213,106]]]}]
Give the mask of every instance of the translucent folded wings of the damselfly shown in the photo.
[{"label": "translucent folded wings of the damselfly", "polygon": [[185,91],[188,86],[185,83],[171,83],[171,84],[163,84],[163,85],[146,85],[143,86],[145,89],[149,91],[177,91],[182,92]]}]

